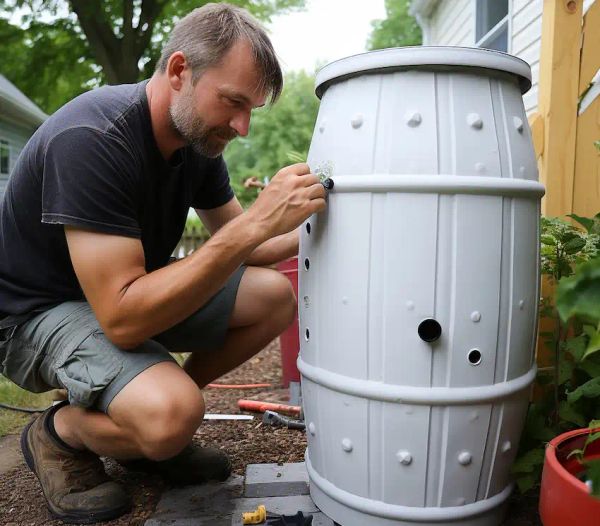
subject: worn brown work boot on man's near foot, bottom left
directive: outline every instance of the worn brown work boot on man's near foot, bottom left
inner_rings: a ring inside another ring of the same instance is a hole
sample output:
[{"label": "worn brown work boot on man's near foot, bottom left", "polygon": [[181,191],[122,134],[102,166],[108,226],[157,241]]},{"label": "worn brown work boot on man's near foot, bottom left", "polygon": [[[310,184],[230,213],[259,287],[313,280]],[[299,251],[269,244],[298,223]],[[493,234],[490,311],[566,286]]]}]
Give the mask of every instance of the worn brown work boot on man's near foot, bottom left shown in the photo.
[{"label": "worn brown work boot on man's near foot, bottom left", "polygon": [[40,481],[51,515],[77,524],[123,515],[131,506],[129,496],[106,475],[100,458],[67,449],[50,434],[48,419],[63,405],[46,410],[21,435],[23,456]]}]

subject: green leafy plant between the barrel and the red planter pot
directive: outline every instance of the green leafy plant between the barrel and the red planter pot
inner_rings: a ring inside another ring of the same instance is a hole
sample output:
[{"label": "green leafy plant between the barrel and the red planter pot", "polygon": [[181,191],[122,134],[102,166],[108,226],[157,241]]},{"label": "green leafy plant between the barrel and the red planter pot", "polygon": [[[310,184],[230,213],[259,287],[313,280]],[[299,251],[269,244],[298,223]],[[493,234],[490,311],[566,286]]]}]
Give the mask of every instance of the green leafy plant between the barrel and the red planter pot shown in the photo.
[{"label": "green leafy plant between the barrel and the red planter pot", "polygon": [[542,274],[556,295],[541,300],[540,317],[554,330],[540,336],[554,363],[538,372],[543,395],[529,408],[513,466],[522,492],[539,485],[549,440],[600,416],[600,214],[569,217],[581,228],[559,218],[541,221]]}]

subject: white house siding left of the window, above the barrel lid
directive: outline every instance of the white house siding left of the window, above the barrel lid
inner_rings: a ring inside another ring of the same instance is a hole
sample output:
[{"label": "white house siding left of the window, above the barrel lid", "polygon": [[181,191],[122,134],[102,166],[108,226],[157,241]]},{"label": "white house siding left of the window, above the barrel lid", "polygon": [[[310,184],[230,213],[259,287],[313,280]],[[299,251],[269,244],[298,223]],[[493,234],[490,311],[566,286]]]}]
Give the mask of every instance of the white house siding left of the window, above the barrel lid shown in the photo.
[{"label": "white house siding left of the window, above the barrel lid", "polygon": [[473,46],[475,43],[475,4],[473,0],[443,0],[431,16],[431,44]]}]

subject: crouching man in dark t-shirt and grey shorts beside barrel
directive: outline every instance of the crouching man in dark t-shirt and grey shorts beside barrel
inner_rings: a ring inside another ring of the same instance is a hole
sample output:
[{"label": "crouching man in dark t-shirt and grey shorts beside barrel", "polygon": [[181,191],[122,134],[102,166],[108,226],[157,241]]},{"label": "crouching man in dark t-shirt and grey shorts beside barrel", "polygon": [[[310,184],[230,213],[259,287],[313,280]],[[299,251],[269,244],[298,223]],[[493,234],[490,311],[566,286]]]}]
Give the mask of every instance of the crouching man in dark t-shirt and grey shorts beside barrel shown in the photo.
[{"label": "crouching man in dark t-shirt and grey shorts beside barrel", "polygon": [[[25,389],[68,391],[21,440],[53,516],[128,510],[99,456],[174,483],[229,476],[224,453],[191,445],[201,389],[291,323],[290,284],[264,267],[296,254],[297,227],[325,208],[305,164],[245,212],[231,190],[221,154],[281,87],[259,24],[208,4],[152,78],[77,97],[23,149],[0,205],[0,363]],[[190,207],[212,237],[168,264]],[[169,351],[191,354],[181,368]]]}]

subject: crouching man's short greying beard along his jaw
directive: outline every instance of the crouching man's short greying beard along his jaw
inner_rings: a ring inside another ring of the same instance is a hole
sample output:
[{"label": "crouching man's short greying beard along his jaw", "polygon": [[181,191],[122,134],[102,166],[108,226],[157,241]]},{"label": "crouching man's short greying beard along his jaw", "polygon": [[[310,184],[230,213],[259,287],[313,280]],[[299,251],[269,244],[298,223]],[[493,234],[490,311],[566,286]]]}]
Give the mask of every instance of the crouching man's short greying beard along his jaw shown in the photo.
[{"label": "crouching man's short greying beard along his jaw", "polygon": [[169,106],[169,116],[175,133],[205,157],[218,157],[227,146],[227,142],[219,141],[215,135],[227,141],[237,137],[235,130],[229,126],[211,128],[206,125],[204,119],[194,111],[191,86],[186,88],[176,103]]}]

